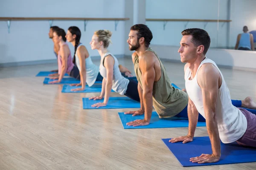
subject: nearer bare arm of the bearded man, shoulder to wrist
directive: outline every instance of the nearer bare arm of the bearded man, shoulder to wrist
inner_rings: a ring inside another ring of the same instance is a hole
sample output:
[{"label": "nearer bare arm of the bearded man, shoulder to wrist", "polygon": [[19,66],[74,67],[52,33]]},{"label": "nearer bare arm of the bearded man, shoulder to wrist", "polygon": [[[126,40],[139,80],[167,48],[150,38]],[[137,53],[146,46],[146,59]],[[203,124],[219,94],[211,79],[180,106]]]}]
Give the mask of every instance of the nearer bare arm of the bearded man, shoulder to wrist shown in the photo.
[{"label": "nearer bare arm of the bearded man, shoulder to wrist", "polygon": [[155,79],[154,56],[145,52],[139,59],[139,67],[142,73],[144,119],[146,122],[150,122],[153,110],[152,93]]}]

